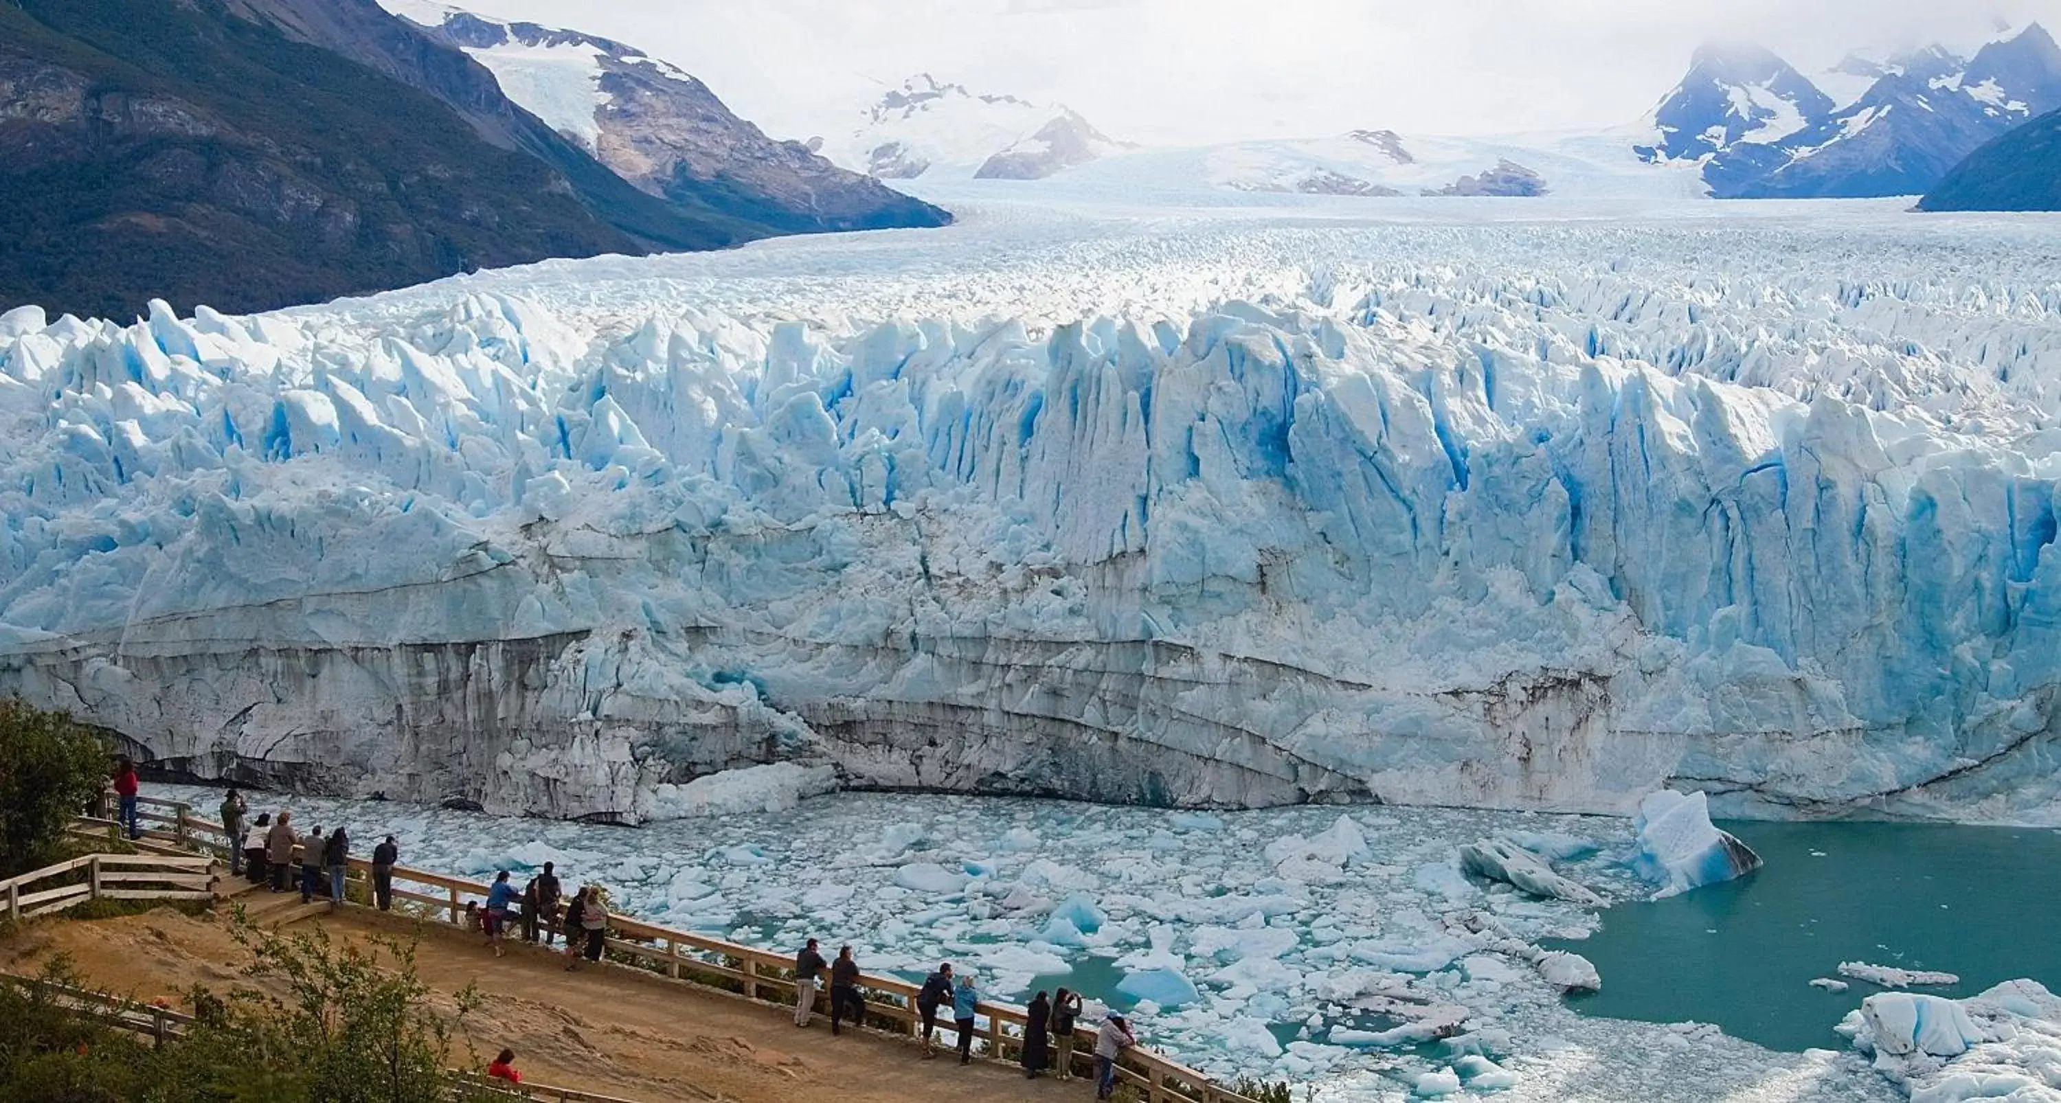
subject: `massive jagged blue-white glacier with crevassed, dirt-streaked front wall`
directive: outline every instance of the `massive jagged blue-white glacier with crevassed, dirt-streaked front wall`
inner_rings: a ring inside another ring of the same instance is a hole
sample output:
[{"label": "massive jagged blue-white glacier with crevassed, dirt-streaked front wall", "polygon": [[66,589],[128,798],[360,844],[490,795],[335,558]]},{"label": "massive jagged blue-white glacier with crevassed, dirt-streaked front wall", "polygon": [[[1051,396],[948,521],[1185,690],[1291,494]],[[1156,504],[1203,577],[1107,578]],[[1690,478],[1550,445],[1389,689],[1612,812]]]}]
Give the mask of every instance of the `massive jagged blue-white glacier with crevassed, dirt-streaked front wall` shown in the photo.
[{"label": "massive jagged blue-white glacier with crevassed, dirt-streaked front wall", "polygon": [[814,759],[2061,823],[2030,231],[979,227],[8,313],[0,689],[544,814]]}]

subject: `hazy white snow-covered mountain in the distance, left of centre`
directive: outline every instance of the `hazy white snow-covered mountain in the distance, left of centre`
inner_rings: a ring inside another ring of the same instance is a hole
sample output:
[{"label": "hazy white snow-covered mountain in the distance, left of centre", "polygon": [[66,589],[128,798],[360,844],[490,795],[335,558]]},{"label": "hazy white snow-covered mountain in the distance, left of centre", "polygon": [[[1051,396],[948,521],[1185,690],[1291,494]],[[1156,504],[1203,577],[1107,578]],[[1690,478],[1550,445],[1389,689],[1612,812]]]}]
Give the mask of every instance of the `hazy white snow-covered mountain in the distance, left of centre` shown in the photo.
[{"label": "hazy white snow-covered mountain in the distance, left of centre", "polygon": [[826,144],[837,163],[882,179],[1043,179],[1123,148],[1070,107],[973,93],[927,72],[888,89],[855,132]]}]

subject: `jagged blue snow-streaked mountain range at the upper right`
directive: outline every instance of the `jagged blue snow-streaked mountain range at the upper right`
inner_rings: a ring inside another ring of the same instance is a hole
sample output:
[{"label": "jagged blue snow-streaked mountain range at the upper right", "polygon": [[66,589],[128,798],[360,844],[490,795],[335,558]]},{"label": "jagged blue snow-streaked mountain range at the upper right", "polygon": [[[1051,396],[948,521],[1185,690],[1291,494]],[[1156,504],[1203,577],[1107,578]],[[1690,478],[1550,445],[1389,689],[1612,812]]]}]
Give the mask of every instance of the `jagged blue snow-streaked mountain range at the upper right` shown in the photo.
[{"label": "jagged blue snow-streaked mountain range at the upper right", "polygon": [[1849,56],[1824,78],[1836,95],[1764,49],[1698,52],[1653,113],[1655,142],[1636,153],[1700,163],[1719,198],[1904,196],[2061,109],[2061,47],[2038,25],[1972,58],[1941,45],[1888,62]]}]

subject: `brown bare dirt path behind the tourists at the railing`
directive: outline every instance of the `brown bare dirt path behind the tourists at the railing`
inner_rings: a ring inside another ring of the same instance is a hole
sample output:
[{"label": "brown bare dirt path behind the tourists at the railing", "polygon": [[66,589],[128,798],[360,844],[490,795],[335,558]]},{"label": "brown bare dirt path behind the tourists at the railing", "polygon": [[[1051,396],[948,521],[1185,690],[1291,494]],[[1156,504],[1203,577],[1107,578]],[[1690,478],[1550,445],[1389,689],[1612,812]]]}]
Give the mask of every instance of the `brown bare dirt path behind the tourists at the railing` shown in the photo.
[{"label": "brown bare dirt path behind the tourists at the railing", "polygon": [[[260,917],[299,903],[268,893],[247,899]],[[0,967],[33,973],[64,952],[95,988],[183,1006],[196,983],[214,990],[251,983],[241,975],[249,955],[231,938],[225,915],[227,907],[200,917],[159,909],[120,920],[39,920],[0,944]],[[960,1068],[952,1056],[921,1060],[913,1039],[849,1029],[831,1037],[829,1021],[796,1029],[779,1008],[631,969],[583,965],[567,973],[559,955],[532,946],[511,944],[497,961],[480,940],[441,924],[346,909],[286,930],[303,926],[354,942],[420,932],[423,981],[445,1004],[468,983],[486,998],[468,1018],[480,1062],[507,1045],[517,1068],[538,1082],[647,1103],[1057,1103],[1094,1095],[1084,1080],[1024,1080],[1016,1068],[993,1062]]]}]

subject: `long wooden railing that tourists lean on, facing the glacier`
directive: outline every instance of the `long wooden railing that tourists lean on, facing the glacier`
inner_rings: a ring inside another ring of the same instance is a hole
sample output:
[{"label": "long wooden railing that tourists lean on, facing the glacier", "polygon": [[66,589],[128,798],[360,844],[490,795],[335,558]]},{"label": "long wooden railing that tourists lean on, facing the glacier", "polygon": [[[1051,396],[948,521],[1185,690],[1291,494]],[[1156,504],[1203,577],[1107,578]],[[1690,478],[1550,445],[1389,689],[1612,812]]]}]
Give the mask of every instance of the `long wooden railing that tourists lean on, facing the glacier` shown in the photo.
[{"label": "long wooden railing that tourists lean on, facing the glacier", "polygon": [[[138,821],[167,829],[153,831],[153,837],[169,837],[181,847],[223,854],[227,854],[229,845],[237,845],[229,839],[223,825],[200,818],[190,804],[153,798],[140,798],[136,804]],[[352,884],[365,884],[365,893],[369,893],[371,862],[352,858],[350,880]],[[404,889],[404,884],[427,887],[431,891]],[[484,907],[486,891],[488,887],[478,880],[394,866],[396,907],[410,905],[408,911],[425,920],[464,926],[466,901],[474,899],[474,903]],[[796,1000],[793,959],[787,955],[622,915],[610,915],[608,926],[612,938],[606,938],[604,944],[622,965],[684,983],[732,992],[754,1002],[791,1006]],[[915,1008],[917,985],[899,977],[861,973],[859,990],[866,996],[866,1014],[870,1021],[876,1025],[884,1023],[897,1033],[911,1037],[921,1033],[921,1016]],[[818,992],[818,1000],[824,998],[826,994]],[[975,1025],[975,1041],[983,1047],[985,1056],[995,1060],[1018,1058],[1026,1029],[1024,1008],[983,1000],[977,1010],[985,1018],[985,1027]],[[944,1018],[940,1021],[940,1029],[950,1031],[954,1025],[950,1018]],[[1094,1031],[1076,1027],[1074,1062],[1076,1068],[1070,1072],[1092,1074]],[[1206,1074],[1142,1045],[1125,1049],[1117,1066],[1117,1080],[1131,1084],[1144,1103],[1255,1103],[1210,1080]]]}]

